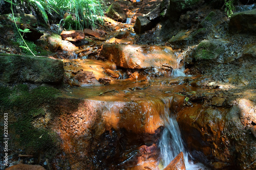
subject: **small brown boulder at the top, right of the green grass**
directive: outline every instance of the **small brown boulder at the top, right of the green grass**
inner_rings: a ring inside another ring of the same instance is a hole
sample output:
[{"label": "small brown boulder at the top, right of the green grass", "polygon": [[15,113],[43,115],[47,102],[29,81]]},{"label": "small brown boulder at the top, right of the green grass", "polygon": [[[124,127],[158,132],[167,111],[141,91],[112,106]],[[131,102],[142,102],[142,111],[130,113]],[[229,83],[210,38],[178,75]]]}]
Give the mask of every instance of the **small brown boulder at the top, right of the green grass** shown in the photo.
[{"label": "small brown boulder at the top, right of the green grass", "polygon": [[117,19],[118,21],[124,21],[126,16],[121,8],[121,6],[115,2],[111,4],[108,10],[106,10],[106,15],[111,17],[112,19]]}]

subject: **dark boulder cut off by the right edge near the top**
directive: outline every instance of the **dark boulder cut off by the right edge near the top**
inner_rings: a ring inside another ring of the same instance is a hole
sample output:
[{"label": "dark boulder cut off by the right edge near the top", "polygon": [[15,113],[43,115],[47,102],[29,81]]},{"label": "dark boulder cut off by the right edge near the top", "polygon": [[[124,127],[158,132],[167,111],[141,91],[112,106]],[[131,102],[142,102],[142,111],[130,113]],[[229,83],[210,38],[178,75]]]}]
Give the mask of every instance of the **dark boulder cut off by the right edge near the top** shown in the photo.
[{"label": "dark boulder cut off by the right edge near the top", "polygon": [[234,13],[230,17],[228,29],[231,33],[256,34],[256,9]]}]

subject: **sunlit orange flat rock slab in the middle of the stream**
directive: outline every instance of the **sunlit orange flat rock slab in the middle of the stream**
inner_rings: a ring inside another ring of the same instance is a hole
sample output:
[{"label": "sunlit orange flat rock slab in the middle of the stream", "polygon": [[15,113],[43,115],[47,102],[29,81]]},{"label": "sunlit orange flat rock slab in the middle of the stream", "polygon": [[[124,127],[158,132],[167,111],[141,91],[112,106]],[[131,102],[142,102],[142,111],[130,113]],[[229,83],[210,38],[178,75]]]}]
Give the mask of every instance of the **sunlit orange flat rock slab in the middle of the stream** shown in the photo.
[{"label": "sunlit orange flat rock slab in the middle of the stream", "polygon": [[176,68],[177,57],[171,47],[129,44],[104,44],[101,55],[117,66],[132,69],[162,67]]}]

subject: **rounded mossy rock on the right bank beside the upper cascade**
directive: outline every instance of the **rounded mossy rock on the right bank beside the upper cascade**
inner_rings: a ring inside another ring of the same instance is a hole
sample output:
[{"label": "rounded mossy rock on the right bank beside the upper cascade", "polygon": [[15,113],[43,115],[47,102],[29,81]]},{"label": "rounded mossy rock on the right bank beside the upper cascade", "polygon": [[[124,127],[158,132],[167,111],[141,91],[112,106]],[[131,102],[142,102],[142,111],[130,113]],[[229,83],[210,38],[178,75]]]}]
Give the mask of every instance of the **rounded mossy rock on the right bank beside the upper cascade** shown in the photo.
[{"label": "rounded mossy rock on the right bank beside the upper cascade", "polygon": [[221,40],[203,40],[198,44],[195,59],[196,60],[210,60],[216,59],[225,51]]}]

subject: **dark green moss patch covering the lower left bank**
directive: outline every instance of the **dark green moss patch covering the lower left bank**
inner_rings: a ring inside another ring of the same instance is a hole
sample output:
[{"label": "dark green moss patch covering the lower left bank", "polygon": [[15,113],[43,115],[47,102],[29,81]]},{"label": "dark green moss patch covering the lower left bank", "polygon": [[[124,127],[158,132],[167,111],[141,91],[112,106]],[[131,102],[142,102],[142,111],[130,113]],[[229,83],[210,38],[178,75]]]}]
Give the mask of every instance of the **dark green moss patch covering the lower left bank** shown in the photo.
[{"label": "dark green moss patch covering the lower left bank", "polygon": [[[57,151],[59,138],[49,128],[36,128],[32,122],[36,118],[46,115],[43,107],[54,102],[54,95],[59,90],[52,87],[40,86],[29,90],[24,84],[13,88],[0,86],[0,107],[1,112],[8,112],[10,117],[9,129],[14,132],[10,134],[15,148],[24,149],[27,154],[44,153],[51,158]],[[14,114],[14,115],[11,115]]]}]

